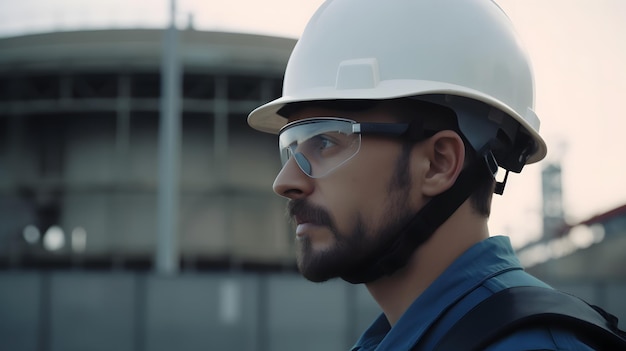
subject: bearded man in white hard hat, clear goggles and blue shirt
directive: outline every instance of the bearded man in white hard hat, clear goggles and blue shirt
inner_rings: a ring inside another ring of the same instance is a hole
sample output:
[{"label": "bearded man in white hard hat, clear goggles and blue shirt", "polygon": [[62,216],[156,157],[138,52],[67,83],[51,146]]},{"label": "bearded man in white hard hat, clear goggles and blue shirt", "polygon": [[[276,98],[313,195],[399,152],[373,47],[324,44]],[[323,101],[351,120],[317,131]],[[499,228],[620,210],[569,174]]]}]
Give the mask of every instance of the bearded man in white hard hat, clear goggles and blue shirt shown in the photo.
[{"label": "bearded man in white hard hat, clear goggles and blue shirt", "polygon": [[[546,154],[533,105],[527,55],[492,1],[330,0],[312,17],[283,97],[248,122],[279,135],[274,191],[302,274],[363,283],[383,311],[353,350],[431,350],[498,291],[547,287],[487,228],[498,168]],[[590,349],[559,327],[488,348]]]}]

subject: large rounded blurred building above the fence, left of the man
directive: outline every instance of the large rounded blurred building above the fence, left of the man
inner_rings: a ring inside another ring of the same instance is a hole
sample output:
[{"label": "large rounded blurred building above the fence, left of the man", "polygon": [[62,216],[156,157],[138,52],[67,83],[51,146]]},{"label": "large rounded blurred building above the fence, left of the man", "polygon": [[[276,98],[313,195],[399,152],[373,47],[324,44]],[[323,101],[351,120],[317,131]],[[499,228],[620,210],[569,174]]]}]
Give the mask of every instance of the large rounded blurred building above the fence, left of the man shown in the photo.
[{"label": "large rounded blurred building above the fence, left of the man", "polygon": [[[291,265],[271,192],[293,39],[181,31],[183,268]],[[161,30],[0,39],[0,265],[150,268],[157,233]]]}]

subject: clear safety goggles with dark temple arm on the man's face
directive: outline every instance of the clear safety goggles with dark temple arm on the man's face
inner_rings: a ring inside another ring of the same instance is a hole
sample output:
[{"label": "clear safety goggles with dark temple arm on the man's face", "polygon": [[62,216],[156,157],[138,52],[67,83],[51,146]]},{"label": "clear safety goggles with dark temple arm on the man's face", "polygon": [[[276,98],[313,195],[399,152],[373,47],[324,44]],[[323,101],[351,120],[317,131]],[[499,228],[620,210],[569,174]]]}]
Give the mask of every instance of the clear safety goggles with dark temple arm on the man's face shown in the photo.
[{"label": "clear safety goggles with dark temple arm on the man's face", "polygon": [[283,167],[294,158],[311,178],[321,178],[348,162],[361,148],[361,135],[398,137],[409,124],[357,123],[356,121],[316,117],[295,121],[279,132],[280,158]]}]

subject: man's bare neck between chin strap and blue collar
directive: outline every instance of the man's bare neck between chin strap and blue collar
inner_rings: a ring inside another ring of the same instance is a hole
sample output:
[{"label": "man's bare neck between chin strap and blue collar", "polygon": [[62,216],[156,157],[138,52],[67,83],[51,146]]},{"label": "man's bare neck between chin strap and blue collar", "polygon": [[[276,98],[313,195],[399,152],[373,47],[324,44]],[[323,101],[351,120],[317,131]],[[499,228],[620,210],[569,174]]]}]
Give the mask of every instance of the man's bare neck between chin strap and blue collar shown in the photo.
[{"label": "man's bare neck between chin strap and blue collar", "polygon": [[476,215],[466,201],[415,250],[405,267],[367,283],[367,289],[393,326],[454,260],[488,237],[487,219]]}]

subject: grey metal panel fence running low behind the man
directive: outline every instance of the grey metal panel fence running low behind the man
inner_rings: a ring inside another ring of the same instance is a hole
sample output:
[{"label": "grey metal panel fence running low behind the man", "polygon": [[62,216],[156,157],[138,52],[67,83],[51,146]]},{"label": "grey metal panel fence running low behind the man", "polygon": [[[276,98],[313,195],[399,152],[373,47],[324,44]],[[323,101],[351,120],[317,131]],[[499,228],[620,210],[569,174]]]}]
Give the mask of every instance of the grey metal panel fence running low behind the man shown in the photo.
[{"label": "grey metal panel fence running low behind the man", "polygon": [[[624,325],[626,282],[557,286]],[[345,350],[378,313],[362,286],[294,273],[0,272],[3,350]]]}]

